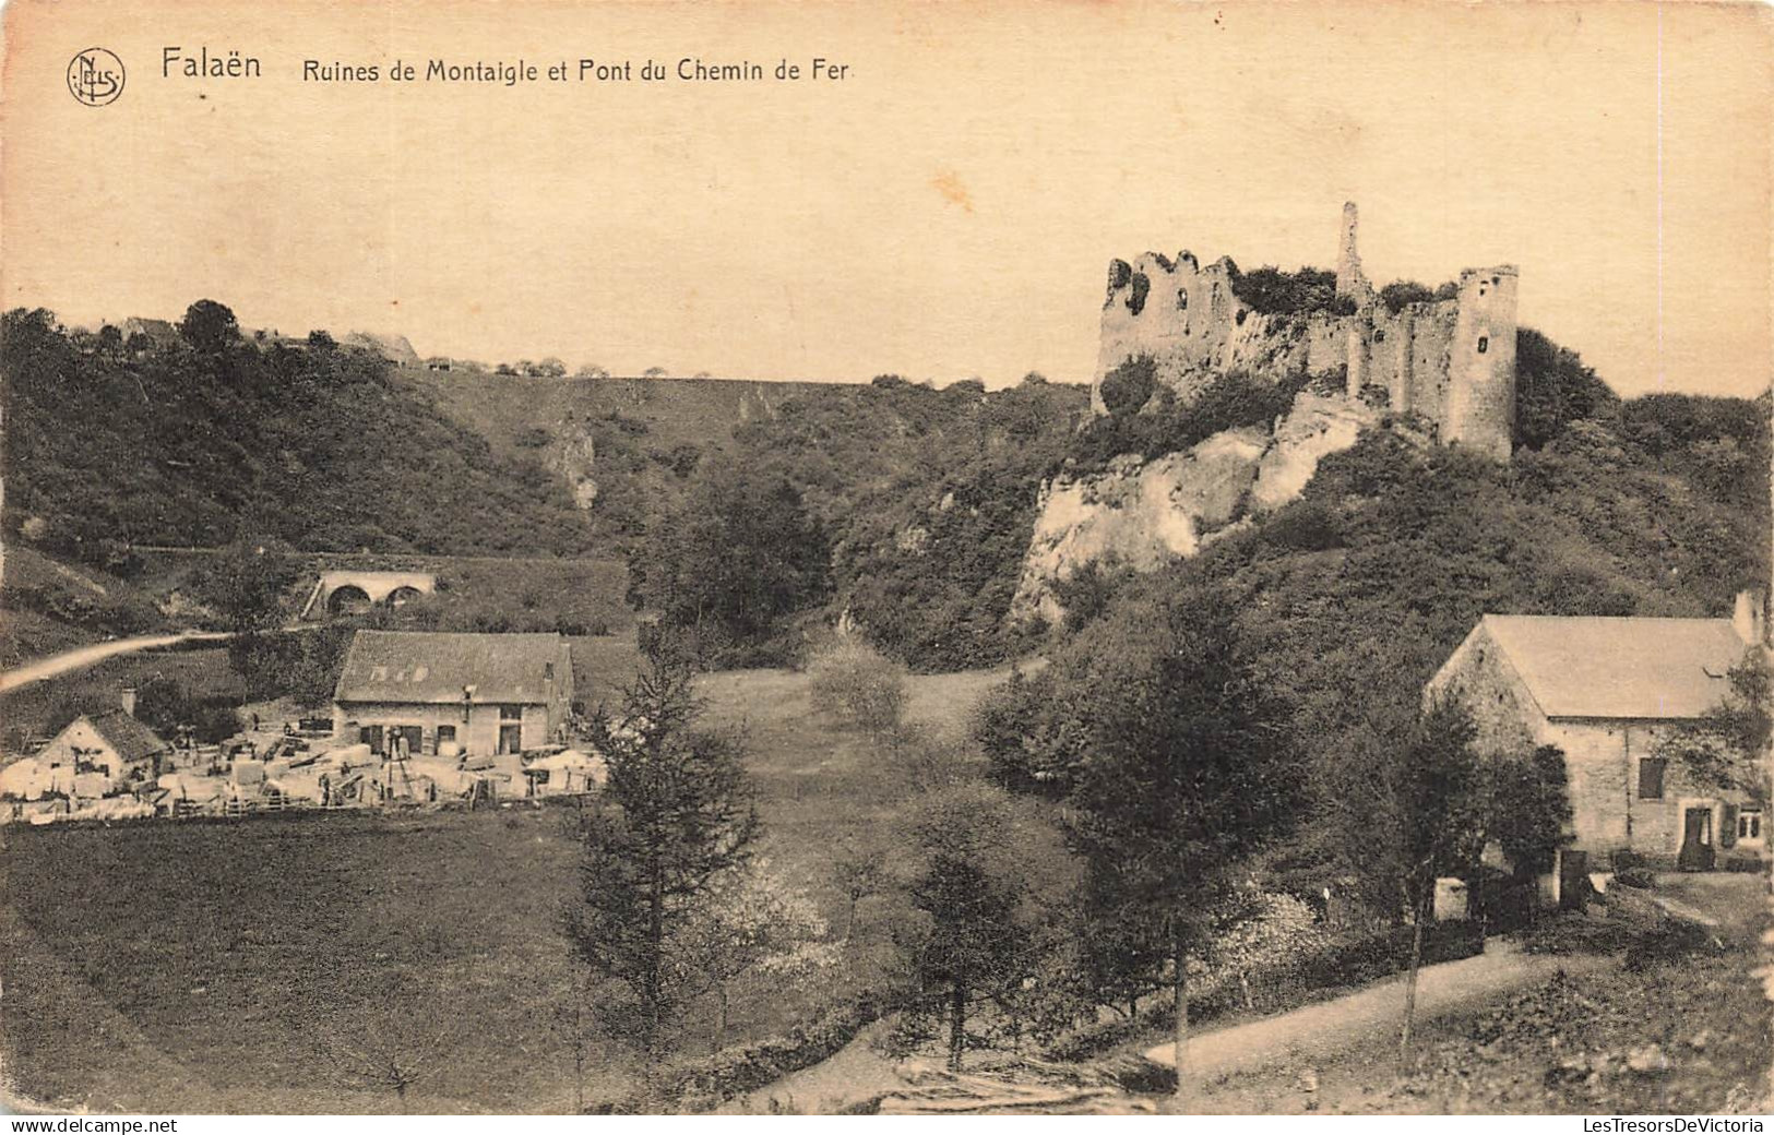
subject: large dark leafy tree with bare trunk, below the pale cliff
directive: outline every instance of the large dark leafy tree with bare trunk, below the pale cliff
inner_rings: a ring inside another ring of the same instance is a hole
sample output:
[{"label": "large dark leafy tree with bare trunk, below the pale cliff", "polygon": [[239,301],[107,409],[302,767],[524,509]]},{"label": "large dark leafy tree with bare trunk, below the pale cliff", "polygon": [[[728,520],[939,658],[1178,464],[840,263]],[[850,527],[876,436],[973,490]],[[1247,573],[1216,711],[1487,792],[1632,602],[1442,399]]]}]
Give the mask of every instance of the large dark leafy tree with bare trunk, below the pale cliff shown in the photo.
[{"label": "large dark leafy tree with bare trunk, below the pale cliff", "polygon": [[1130,670],[1100,690],[1066,837],[1086,908],[1116,920],[1123,982],[1171,986],[1176,1091],[1189,1089],[1189,968],[1231,871],[1283,834],[1299,803],[1286,708],[1242,653],[1229,605],[1187,589],[1150,612]]}]

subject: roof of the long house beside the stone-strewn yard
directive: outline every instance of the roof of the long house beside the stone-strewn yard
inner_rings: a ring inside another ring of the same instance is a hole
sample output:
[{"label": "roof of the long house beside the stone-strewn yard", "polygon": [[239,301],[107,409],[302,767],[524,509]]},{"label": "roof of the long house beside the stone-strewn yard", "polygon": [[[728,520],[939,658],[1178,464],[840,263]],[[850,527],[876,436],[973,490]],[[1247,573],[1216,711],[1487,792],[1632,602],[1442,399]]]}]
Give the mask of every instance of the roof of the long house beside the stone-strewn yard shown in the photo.
[{"label": "roof of the long house beside the stone-strewn yard", "polygon": [[357,631],[334,701],[452,702],[474,686],[474,704],[543,704],[548,667],[566,683],[573,658],[561,635]]}]

